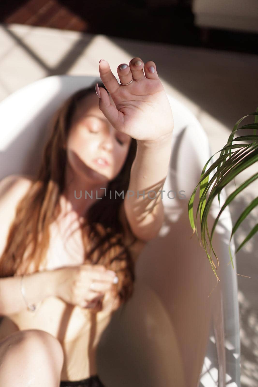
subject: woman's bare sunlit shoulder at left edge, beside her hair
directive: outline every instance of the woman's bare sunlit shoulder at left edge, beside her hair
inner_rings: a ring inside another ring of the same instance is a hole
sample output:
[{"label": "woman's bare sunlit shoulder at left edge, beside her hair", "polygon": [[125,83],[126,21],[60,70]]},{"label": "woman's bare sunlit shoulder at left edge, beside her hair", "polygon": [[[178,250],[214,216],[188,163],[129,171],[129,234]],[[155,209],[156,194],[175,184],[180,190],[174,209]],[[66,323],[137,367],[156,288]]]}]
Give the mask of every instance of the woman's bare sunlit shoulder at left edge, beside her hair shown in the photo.
[{"label": "woman's bare sunlit shoulder at left edge, beside her hair", "polygon": [[16,207],[31,186],[30,175],[9,175],[0,180],[0,256],[7,240],[10,225],[15,217]]}]

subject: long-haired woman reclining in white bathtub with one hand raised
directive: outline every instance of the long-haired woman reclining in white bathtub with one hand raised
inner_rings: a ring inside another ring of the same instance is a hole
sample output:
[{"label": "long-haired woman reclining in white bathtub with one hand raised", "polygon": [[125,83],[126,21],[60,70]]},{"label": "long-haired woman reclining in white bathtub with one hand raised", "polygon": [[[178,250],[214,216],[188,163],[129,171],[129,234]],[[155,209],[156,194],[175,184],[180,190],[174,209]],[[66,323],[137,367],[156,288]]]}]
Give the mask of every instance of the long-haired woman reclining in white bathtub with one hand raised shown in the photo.
[{"label": "long-haired woman reclining in white bathtub with one hand raised", "polygon": [[117,72],[101,59],[101,87],[56,112],[36,178],[0,182],[0,385],[103,386],[97,343],[161,228],[174,127],[154,62]]}]

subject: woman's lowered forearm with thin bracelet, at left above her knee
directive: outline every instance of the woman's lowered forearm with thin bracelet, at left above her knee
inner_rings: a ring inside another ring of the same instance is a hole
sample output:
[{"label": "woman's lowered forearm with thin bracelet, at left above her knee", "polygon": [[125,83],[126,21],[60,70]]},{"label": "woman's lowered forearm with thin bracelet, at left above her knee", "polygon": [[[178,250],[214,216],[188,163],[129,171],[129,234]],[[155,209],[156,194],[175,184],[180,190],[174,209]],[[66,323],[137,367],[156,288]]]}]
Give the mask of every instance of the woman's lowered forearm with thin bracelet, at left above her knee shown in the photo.
[{"label": "woman's lowered forearm with thin bracelet, at left above her knee", "polygon": [[[28,305],[37,304],[55,295],[55,271],[41,271],[24,275],[22,286]],[[27,308],[21,292],[21,276],[0,279],[0,314],[12,315]]]}]

